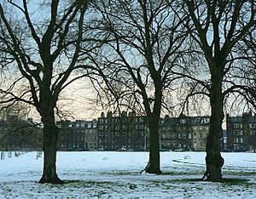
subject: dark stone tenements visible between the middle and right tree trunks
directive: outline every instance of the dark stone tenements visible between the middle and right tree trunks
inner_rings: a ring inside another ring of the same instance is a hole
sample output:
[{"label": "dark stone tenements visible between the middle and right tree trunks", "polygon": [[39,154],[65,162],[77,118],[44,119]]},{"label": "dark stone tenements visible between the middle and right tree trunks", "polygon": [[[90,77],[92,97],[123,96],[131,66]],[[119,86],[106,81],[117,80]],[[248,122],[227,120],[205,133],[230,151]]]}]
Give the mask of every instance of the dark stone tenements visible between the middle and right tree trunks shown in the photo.
[{"label": "dark stone tenements visible between the middle and right tree trunks", "polygon": [[160,122],[160,146],[174,151],[205,151],[210,117],[168,117]]}]

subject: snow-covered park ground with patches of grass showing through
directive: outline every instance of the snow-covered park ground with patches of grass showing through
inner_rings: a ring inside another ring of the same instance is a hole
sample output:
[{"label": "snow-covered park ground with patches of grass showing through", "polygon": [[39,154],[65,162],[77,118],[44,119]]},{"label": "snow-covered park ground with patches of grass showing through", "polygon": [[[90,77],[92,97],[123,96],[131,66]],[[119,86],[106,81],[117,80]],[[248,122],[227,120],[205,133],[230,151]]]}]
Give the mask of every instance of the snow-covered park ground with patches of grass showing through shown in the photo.
[{"label": "snow-covered park ground with patches of grass showing through", "polygon": [[[14,154],[13,154],[14,155]],[[64,185],[40,185],[36,152],[0,160],[0,198],[256,198],[256,154],[223,153],[223,183],[200,181],[204,152],[161,152],[162,175],[140,173],[148,152],[58,152]]]}]

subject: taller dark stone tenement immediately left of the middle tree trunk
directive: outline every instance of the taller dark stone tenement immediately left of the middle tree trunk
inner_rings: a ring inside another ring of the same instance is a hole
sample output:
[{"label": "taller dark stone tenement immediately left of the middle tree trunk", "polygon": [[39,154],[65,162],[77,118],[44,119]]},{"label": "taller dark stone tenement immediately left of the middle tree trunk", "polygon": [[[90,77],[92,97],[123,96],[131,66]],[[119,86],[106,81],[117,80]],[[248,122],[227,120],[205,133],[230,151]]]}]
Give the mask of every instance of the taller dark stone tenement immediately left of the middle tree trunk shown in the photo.
[{"label": "taller dark stone tenement immediately left of the middle tree trunk", "polygon": [[136,116],[135,112],[123,111],[120,116],[114,116],[108,111],[106,117],[102,112],[98,129],[98,145],[102,151],[145,151],[148,148],[147,117]]}]

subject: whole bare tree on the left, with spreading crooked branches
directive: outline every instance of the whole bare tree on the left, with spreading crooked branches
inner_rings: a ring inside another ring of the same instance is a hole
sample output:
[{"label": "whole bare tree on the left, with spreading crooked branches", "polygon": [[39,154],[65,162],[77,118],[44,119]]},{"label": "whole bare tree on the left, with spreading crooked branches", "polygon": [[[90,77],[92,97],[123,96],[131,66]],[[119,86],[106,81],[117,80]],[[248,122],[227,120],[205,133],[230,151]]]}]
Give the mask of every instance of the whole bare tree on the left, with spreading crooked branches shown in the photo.
[{"label": "whole bare tree on the left, with spreading crooked branches", "polygon": [[55,167],[55,106],[61,91],[79,78],[73,71],[79,67],[89,1],[33,3],[0,3],[0,63],[13,75],[0,90],[5,96],[1,103],[22,101],[37,109],[44,123],[44,173],[39,183],[63,183]]}]

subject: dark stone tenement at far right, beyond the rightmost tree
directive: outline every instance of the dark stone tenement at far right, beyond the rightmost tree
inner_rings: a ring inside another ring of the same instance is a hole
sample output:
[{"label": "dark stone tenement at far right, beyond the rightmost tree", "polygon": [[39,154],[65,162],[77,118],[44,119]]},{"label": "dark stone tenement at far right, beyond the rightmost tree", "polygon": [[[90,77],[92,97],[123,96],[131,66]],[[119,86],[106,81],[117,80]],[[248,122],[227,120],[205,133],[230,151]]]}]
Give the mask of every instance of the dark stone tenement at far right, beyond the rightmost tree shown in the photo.
[{"label": "dark stone tenement at far right, beyond the rightmost tree", "polygon": [[226,117],[227,149],[229,151],[253,151],[256,147],[256,117],[252,112],[240,117]]}]

